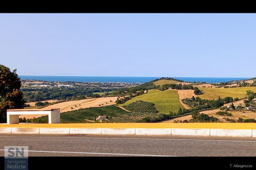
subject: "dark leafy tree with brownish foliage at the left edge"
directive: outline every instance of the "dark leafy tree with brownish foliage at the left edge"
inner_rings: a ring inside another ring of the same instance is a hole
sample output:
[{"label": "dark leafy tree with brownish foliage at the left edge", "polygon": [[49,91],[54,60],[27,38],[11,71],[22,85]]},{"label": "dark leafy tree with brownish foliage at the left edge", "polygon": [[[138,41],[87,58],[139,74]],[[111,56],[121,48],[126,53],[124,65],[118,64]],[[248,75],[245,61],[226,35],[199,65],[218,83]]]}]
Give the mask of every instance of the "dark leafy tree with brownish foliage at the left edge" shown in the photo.
[{"label": "dark leafy tree with brownish foliage at the left edge", "polygon": [[7,109],[24,108],[21,81],[16,71],[12,72],[10,68],[0,65],[0,122],[7,121]]}]

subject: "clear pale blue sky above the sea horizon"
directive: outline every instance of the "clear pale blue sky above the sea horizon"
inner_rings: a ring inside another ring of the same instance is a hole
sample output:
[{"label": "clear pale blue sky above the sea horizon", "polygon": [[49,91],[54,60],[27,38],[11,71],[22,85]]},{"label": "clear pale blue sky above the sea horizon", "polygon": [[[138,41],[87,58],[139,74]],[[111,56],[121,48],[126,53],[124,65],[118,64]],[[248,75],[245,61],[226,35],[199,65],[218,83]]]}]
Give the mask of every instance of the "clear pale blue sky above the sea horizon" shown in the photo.
[{"label": "clear pale blue sky above the sea horizon", "polygon": [[256,14],[0,14],[19,75],[256,77]]}]

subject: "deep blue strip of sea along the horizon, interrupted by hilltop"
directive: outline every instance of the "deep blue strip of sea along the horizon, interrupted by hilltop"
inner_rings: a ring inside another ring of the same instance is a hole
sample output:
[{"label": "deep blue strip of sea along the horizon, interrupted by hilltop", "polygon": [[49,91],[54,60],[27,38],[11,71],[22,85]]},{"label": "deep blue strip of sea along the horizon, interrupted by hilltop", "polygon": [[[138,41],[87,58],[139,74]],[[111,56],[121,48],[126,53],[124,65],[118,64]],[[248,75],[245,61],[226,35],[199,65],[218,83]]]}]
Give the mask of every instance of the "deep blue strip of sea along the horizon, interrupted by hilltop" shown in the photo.
[{"label": "deep blue strip of sea along the horizon, interrupted by hilltop", "polygon": [[[146,83],[161,77],[101,77],[101,76],[50,76],[50,75],[19,75],[21,80],[41,81],[77,81],[77,82],[99,82],[99,83]],[[246,80],[250,78],[240,77],[172,77],[188,82],[221,83],[232,80]]]}]

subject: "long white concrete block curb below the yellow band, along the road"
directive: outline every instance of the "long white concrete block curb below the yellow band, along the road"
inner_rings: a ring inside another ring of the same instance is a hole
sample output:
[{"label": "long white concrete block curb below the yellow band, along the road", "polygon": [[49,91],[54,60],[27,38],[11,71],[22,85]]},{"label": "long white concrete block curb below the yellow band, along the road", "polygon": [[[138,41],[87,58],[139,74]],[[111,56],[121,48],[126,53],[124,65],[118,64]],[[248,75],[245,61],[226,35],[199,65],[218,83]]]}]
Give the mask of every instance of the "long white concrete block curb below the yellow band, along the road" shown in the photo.
[{"label": "long white concrete block curb below the yellow band, along the road", "polygon": [[0,128],[0,134],[112,134],[256,137],[256,130],[210,128]]}]

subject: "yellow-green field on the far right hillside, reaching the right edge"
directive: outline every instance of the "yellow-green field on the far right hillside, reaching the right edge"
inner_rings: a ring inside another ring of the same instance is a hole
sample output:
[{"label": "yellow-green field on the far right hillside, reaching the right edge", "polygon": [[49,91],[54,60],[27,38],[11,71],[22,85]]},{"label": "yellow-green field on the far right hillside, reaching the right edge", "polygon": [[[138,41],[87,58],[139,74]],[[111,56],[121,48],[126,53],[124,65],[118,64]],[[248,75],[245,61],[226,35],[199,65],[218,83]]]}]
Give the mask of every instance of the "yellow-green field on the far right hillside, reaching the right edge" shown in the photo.
[{"label": "yellow-green field on the far right hillside, reaching the right edge", "polygon": [[199,87],[200,90],[204,93],[203,95],[198,95],[202,99],[218,99],[218,96],[221,98],[224,97],[238,97],[239,99],[246,96],[246,90],[252,90],[256,92],[256,87],[235,87],[235,88],[208,88],[208,87]]}]

